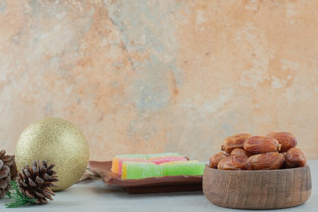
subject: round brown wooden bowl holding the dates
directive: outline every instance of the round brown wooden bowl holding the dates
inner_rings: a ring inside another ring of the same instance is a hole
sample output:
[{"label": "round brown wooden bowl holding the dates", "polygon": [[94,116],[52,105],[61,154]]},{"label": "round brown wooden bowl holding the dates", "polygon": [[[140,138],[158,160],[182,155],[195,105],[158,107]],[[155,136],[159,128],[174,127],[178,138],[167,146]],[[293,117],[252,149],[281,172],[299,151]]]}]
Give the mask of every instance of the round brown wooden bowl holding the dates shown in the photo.
[{"label": "round brown wooden bowl holding the dates", "polygon": [[240,209],[274,209],[300,205],[311,194],[308,165],[279,170],[236,171],[210,168],[203,192],[215,205]]}]

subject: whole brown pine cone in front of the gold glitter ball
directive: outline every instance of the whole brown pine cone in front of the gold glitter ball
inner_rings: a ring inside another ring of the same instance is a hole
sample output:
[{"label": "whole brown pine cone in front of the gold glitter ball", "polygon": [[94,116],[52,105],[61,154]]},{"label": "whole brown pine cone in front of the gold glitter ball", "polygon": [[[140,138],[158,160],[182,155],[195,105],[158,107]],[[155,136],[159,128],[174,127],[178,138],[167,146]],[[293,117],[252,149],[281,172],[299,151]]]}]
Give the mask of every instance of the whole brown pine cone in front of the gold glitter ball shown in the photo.
[{"label": "whole brown pine cone in front of the gold glitter ball", "polygon": [[17,183],[19,190],[24,196],[36,198],[35,203],[47,203],[47,199],[53,200],[54,192],[49,187],[57,187],[56,171],[53,171],[55,165],[49,165],[47,161],[33,161],[31,165],[25,165],[18,172]]}]

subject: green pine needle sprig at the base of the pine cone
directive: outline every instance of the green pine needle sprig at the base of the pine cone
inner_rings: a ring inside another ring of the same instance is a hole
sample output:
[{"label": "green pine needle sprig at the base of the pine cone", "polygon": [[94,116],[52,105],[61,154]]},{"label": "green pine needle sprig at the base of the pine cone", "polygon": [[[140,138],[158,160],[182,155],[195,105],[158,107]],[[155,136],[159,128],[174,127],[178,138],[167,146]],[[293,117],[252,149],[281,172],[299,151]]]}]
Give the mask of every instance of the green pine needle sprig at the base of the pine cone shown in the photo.
[{"label": "green pine needle sprig at the base of the pine cone", "polygon": [[37,199],[34,199],[34,198],[30,199],[27,196],[24,196],[23,194],[21,194],[15,181],[10,181],[10,186],[11,186],[10,190],[13,190],[13,191],[12,192],[9,191],[6,195],[9,197],[9,199],[13,199],[15,201],[6,203],[6,207],[19,207],[27,203],[34,204],[37,201]]}]

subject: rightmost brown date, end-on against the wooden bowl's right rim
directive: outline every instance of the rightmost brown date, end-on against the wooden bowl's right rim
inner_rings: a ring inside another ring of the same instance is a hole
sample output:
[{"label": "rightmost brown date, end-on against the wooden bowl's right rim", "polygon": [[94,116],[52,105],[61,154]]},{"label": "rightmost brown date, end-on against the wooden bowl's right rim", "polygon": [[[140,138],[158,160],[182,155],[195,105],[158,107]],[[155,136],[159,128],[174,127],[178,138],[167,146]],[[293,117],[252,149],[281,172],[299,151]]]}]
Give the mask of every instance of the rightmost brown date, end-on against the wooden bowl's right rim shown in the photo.
[{"label": "rightmost brown date, end-on against the wooden bowl's right rim", "polygon": [[298,148],[289,149],[285,155],[285,160],[285,165],[287,168],[302,167],[307,163],[304,152]]}]

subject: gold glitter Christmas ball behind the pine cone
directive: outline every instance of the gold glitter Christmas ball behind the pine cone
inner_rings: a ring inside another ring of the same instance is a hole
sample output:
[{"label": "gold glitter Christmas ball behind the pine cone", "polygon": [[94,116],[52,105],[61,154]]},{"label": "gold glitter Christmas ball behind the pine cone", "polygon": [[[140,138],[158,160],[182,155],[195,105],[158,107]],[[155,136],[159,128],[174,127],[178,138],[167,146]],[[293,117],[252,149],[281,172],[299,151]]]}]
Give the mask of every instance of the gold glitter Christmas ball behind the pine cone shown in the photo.
[{"label": "gold glitter Christmas ball behind the pine cone", "polygon": [[82,131],[60,118],[45,118],[30,124],[21,133],[15,150],[18,170],[34,159],[55,163],[59,182],[53,191],[77,183],[88,164],[88,144]]}]

